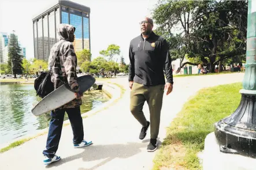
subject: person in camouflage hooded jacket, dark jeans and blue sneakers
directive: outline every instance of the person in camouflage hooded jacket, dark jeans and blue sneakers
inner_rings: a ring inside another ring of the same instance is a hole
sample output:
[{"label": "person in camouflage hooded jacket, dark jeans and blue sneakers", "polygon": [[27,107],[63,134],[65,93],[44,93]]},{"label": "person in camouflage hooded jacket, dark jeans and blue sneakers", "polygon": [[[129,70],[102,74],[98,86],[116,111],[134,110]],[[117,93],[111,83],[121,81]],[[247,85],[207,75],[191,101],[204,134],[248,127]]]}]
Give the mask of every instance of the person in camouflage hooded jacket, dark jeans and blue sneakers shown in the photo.
[{"label": "person in camouflage hooded jacket, dark jeans and blue sneakers", "polygon": [[[80,112],[80,105],[82,103],[81,96],[83,96],[83,94],[79,93],[79,85],[76,82],[77,58],[72,44],[75,40],[75,30],[76,28],[72,25],[60,24],[57,28],[60,41],[55,43],[50,51],[49,66],[54,63],[51,68],[51,82],[54,84],[54,89],[68,82],[73,92],[75,92],[76,99],[51,111],[52,118],[50,120],[46,149],[43,150],[44,164],[50,164],[61,159],[61,157],[57,156],[55,153],[57,152],[61,138],[65,112],[68,114],[71,122],[74,148],[92,144],[91,141],[84,140],[83,120]],[[54,54],[55,51],[58,50],[58,47],[60,47],[60,51],[55,60]]]}]

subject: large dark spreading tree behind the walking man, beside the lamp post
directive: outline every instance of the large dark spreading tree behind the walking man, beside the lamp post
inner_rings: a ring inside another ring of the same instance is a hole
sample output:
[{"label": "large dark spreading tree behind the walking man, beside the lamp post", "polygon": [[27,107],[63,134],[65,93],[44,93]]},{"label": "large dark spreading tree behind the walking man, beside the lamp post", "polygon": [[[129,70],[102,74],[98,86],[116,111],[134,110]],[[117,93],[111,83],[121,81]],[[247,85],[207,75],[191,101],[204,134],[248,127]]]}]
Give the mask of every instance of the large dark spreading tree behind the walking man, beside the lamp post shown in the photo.
[{"label": "large dark spreading tree behind the walking man, beside the lamp post", "polygon": [[170,44],[172,59],[180,58],[176,73],[186,64],[199,64],[182,63],[185,56],[199,58],[213,72],[216,63],[246,50],[245,1],[161,1],[153,18],[157,33]]}]

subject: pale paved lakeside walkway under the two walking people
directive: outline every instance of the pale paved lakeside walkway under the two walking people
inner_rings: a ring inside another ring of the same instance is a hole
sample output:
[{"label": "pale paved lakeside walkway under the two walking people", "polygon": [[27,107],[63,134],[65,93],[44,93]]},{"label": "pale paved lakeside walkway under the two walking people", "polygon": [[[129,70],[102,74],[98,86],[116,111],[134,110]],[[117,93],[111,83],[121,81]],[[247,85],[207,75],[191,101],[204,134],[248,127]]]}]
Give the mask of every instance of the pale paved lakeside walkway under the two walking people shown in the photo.
[{"label": "pale paved lakeside walkway under the two walking people", "polygon": [[[243,76],[244,73],[175,77],[173,92],[164,96],[158,143],[161,144],[164,140],[165,127],[169,126],[188,97],[195,95],[201,88],[242,82]],[[129,112],[128,78],[116,78],[113,81],[127,88],[124,97],[109,109],[83,120],[85,139],[92,140],[93,145],[80,149],[73,148],[72,129],[69,125],[62,129],[57,151],[62,160],[51,165],[43,165],[42,151],[47,138],[47,135],[43,135],[0,154],[0,169],[151,169],[152,160],[158,150],[153,153],[147,152],[150,134],[142,141],[139,139],[141,126]],[[146,103],[144,113],[149,119]]]}]

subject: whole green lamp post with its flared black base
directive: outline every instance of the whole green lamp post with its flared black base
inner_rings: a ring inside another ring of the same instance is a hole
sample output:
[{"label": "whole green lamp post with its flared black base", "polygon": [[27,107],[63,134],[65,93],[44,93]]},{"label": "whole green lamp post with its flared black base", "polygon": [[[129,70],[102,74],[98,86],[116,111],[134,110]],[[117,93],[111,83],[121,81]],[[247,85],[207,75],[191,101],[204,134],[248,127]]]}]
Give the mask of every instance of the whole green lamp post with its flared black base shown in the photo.
[{"label": "whole green lamp post with its flared black base", "polygon": [[224,153],[256,158],[256,1],[248,1],[246,72],[236,111],[215,123],[214,133]]}]

